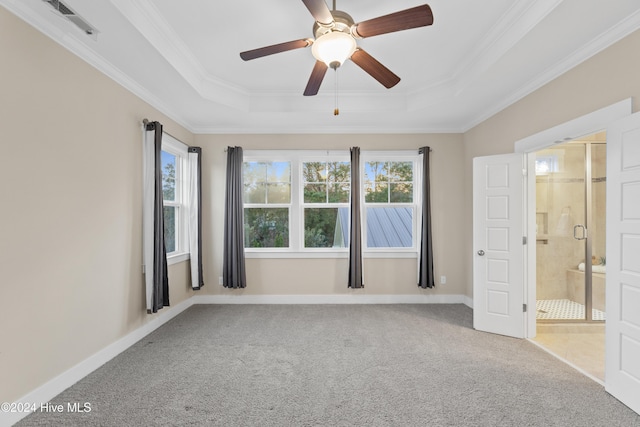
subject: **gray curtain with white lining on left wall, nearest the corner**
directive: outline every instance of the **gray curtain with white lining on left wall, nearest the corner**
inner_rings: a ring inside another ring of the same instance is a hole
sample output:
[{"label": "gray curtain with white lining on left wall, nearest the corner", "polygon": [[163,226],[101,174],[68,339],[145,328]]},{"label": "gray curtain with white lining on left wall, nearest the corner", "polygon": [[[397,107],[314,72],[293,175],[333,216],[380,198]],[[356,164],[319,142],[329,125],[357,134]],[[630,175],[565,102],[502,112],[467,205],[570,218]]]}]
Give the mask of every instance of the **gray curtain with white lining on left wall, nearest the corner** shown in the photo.
[{"label": "gray curtain with white lining on left wall, nearest the corner", "polygon": [[189,147],[189,253],[191,287],[204,286],[202,275],[202,149]]}]

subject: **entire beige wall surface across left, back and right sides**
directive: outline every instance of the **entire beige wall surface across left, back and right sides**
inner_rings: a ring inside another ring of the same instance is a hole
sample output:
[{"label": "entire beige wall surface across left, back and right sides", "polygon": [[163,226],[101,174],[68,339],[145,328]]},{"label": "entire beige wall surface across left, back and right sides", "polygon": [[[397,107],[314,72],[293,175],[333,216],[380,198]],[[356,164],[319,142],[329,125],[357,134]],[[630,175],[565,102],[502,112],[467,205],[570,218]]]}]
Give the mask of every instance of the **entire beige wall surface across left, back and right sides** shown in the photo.
[{"label": "entire beige wall surface across left, back and right sides", "polygon": [[[194,136],[0,8],[0,401],[20,398],[154,318],[145,313],[140,272],[143,117],[203,147],[201,294],[348,293],[344,259],[250,259],[249,288],[217,284],[224,147],[430,145],[435,273],[448,284],[418,290],[415,260],[367,259],[367,286],[354,292],[471,296],[471,159],[511,152],[517,139],[637,97],[638,51],[640,32],[464,135]],[[171,267],[172,304],[193,295],[188,275],[186,263]]]}]

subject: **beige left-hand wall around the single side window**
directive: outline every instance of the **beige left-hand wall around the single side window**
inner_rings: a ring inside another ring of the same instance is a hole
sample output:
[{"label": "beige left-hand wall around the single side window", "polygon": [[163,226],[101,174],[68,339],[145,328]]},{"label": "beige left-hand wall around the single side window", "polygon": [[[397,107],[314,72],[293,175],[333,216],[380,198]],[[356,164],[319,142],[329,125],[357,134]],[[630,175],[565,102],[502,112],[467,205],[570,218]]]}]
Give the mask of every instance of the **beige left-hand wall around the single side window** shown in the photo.
[{"label": "beige left-hand wall around the single side window", "polygon": [[[193,135],[2,7],[0,53],[0,402],[11,402],[155,317],[140,121]],[[186,265],[170,269],[172,304],[192,294]]]}]

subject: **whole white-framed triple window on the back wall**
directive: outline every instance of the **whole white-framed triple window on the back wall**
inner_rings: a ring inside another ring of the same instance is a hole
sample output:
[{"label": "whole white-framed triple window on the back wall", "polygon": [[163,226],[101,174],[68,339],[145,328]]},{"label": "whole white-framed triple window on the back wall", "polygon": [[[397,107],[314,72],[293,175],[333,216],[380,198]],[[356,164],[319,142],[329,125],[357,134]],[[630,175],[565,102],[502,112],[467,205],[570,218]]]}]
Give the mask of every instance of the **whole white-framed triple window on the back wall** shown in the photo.
[{"label": "whole white-framed triple window on the back wall", "polygon": [[[365,248],[415,253],[417,152],[363,152],[361,158]],[[347,151],[246,151],[243,179],[248,254],[346,256]]]}]

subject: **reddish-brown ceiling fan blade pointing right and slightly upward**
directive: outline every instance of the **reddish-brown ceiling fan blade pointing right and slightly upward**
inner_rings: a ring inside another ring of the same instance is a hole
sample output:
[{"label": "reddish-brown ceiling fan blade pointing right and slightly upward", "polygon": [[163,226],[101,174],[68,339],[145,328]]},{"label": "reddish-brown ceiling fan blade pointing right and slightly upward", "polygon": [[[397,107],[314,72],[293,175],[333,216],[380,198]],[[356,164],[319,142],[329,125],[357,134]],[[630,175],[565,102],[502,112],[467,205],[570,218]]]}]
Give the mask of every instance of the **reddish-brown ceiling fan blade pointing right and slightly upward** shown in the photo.
[{"label": "reddish-brown ceiling fan blade pointing right and slightly upward", "polygon": [[433,13],[428,4],[411,9],[369,19],[355,24],[355,32],[360,37],[378,36],[380,34],[426,27],[433,24]]}]

